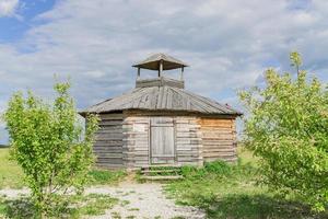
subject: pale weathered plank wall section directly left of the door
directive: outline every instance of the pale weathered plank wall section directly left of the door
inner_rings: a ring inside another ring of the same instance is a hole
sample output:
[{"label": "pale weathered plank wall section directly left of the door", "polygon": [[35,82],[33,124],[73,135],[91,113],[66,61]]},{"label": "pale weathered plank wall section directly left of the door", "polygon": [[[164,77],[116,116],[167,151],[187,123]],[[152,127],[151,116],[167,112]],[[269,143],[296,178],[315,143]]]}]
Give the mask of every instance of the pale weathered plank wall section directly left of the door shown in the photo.
[{"label": "pale weathered plank wall section directly left of the door", "polygon": [[149,165],[149,125],[147,116],[127,116],[124,119],[124,163],[133,169]]}]

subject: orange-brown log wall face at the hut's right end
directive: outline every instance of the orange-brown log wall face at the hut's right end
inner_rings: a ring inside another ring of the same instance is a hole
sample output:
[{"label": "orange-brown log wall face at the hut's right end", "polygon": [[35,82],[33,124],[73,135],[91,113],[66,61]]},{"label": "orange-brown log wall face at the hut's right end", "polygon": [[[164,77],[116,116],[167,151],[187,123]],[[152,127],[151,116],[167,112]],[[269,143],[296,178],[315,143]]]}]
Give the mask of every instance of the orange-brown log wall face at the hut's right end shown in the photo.
[{"label": "orange-brown log wall face at the hut's right end", "polygon": [[236,161],[235,119],[202,118],[200,125],[204,161]]}]

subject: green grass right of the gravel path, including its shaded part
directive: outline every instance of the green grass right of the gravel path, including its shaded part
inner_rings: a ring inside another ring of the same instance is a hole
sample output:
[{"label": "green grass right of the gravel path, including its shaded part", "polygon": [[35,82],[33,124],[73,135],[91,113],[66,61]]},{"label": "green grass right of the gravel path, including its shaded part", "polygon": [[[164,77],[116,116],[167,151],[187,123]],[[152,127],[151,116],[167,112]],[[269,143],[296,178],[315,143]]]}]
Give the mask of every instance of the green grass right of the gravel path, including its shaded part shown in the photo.
[{"label": "green grass right of the gravel path, including its shaded part", "polygon": [[177,204],[197,206],[208,218],[328,218],[315,215],[308,206],[283,199],[257,185],[257,159],[239,150],[238,164],[207,163],[202,169],[184,166],[184,180],[165,187]]}]

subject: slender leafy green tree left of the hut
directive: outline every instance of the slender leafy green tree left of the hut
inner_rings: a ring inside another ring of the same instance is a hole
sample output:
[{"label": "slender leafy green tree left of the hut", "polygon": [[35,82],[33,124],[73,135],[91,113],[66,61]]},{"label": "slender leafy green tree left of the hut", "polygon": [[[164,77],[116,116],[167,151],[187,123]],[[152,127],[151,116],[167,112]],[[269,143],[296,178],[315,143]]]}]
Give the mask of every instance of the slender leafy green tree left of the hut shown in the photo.
[{"label": "slender leafy green tree left of the hut", "polygon": [[51,105],[32,92],[26,99],[17,92],[4,114],[12,157],[25,173],[39,216],[49,212],[58,194],[81,192],[94,161],[92,143],[98,118],[89,115],[82,139],[69,88],[69,83],[55,84],[57,97]]}]

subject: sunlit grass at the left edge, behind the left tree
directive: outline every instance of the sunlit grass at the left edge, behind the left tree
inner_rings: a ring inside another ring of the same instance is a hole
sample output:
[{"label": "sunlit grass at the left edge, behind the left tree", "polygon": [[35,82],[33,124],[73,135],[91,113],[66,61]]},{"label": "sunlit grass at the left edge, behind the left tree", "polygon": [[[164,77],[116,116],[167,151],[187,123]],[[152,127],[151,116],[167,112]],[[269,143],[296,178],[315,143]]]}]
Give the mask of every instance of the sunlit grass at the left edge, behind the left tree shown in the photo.
[{"label": "sunlit grass at the left edge, behind the left tree", "polygon": [[0,148],[0,188],[22,188],[23,171],[9,158],[9,148]]}]

